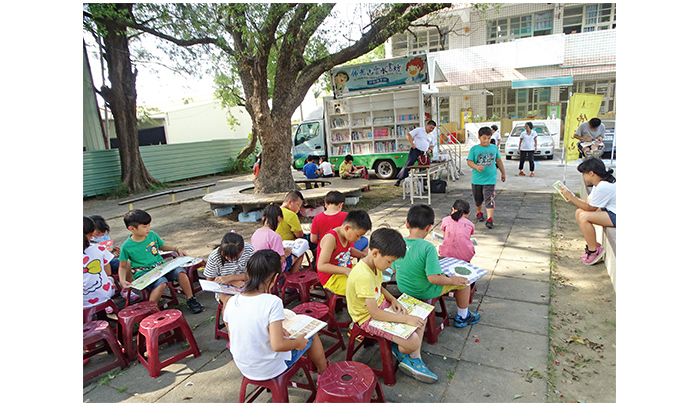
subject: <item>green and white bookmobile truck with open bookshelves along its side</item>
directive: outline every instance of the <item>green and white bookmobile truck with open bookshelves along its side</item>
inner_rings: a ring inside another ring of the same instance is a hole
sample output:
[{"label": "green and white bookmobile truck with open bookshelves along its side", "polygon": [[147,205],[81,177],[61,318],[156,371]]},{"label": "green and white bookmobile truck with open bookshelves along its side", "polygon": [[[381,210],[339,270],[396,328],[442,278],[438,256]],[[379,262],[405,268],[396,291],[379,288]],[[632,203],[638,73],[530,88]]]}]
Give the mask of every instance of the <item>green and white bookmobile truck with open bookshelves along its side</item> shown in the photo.
[{"label": "green and white bookmobile truck with open bookshelves along its side", "polygon": [[411,149],[406,134],[430,117],[432,84],[446,81],[440,68],[423,54],[335,67],[330,74],[334,96],[293,135],[294,168],[308,156],[325,156],[338,170],[350,154],[356,166],[394,178]]}]

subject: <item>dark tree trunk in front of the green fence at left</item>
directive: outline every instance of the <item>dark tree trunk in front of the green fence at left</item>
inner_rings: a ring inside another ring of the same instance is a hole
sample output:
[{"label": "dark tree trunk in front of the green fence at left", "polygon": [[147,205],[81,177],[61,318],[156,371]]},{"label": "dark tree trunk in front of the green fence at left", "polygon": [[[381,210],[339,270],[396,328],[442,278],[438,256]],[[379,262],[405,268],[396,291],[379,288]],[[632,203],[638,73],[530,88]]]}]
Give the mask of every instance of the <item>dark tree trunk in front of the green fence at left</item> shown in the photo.
[{"label": "dark tree trunk in front of the green fence at left", "polygon": [[[131,7],[117,4],[117,8]],[[109,70],[111,88],[102,87],[119,141],[121,180],[129,193],[146,190],[160,184],[146,169],[139,151],[138,120],[136,116],[136,74],[129,54],[129,39],[124,27],[106,27],[105,59]]]}]

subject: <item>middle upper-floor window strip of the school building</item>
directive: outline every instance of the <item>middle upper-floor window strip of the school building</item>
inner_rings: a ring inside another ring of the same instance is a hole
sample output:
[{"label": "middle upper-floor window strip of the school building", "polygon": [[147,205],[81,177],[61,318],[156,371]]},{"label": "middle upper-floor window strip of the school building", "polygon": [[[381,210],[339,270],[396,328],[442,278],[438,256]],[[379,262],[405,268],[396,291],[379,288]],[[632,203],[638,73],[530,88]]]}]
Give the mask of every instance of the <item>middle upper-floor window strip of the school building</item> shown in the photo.
[{"label": "middle upper-floor window strip of the school building", "polygon": [[513,41],[518,38],[536,37],[552,33],[553,12],[527,14],[500,18],[487,23],[487,44]]}]

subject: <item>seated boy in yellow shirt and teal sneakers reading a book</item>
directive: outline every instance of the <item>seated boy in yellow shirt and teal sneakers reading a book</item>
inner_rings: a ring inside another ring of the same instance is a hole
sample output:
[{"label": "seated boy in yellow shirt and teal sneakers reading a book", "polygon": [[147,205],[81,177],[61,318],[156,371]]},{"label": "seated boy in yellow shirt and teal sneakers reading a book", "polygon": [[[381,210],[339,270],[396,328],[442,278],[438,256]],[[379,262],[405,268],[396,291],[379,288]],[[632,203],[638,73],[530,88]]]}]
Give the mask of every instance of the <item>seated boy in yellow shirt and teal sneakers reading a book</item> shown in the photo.
[{"label": "seated boy in yellow shirt and teal sneakers reading a book", "polygon": [[[372,233],[369,254],[352,268],[348,277],[348,313],[362,330],[392,342],[391,352],[399,360],[402,372],[419,381],[433,383],[437,375],[428,369],[420,354],[425,321],[407,314],[406,308],[382,287],[382,271],[405,254],[406,244],[398,231],[380,228]],[[372,320],[406,323],[418,329],[403,339],[370,325]]]}]

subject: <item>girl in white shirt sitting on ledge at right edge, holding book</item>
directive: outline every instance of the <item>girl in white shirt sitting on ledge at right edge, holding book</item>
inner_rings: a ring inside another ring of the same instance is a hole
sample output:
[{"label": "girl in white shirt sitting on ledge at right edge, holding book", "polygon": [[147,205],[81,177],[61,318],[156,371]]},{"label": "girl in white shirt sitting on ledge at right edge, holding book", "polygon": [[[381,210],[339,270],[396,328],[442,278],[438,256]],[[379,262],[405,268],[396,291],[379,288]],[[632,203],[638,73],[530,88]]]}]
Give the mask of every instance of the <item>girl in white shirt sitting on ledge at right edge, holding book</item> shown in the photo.
[{"label": "girl in white shirt sitting on ledge at right edge, holding book", "polygon": [[[605,248],[596,241],[593,225],[603,227],[617,226],[617,198],[613,170],[605,170],[605,164],[599,158],[588,158],[576,168],[583,174],[586,185],[593,185],[588,200],[574,196],[567,189],[560,189],[564,197],[575,204],[576,221],[586,240],[586,250],[581,255],[584,265],[593,265],[603,259]],[[590,247],[595,247],[591,250]]]}]

